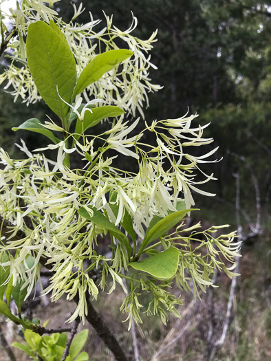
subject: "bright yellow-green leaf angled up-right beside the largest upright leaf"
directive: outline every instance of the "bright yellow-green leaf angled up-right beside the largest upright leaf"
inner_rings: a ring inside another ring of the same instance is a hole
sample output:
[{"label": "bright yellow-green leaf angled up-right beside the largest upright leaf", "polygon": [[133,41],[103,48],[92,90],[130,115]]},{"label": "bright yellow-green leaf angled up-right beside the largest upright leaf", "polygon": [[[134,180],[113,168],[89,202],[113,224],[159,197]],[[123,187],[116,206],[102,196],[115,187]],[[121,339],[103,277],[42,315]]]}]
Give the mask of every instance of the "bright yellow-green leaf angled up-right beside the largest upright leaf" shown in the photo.
[{"label": "bright yellow-green leaf angled up-right beside the largest upright leaf", "polygon": [[82,93],[86,87],[99,80],[103,74],[109,72],[113,67],[132,55],[133,52],[126,49],[109,50],[108,52],[98,54],[80,74],[73,97]]}]

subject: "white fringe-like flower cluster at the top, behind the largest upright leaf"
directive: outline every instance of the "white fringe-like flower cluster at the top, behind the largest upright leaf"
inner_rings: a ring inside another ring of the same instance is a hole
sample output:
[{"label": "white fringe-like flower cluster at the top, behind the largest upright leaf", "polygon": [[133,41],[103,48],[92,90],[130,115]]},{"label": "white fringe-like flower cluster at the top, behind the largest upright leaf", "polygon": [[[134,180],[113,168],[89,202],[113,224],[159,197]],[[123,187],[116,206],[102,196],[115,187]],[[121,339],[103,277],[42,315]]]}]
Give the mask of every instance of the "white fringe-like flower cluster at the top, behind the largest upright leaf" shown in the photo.
[{"label": "white fringe-like flower cluster at the top, behind the largest upright leaf", "polygon": [[[31,23],[39,20],[49,23],[50,20],[53,20],[65,35],[76,58],[78,74],[97,54],[100,54],[103,47],[105,50],[118,49],[116,39],[122,39],[127,44],[127,48],[133,51],[133,58],[124,61],[118,68],[104,74],[98,82],[89,85],[83,94],[86,101],[89,101],[90,96],[102,98],[107,105],[117,105],[133,116],[135,116],[135,111],[138,109],[144,118],[142,108],[144,102],[147,106],[149,105],[148,93],[161,89],[160,85],[153,85],[149,78],[149,68],[156,69],[155,65],[150,61],[151,56],[148,54],[153,48],[153,42],[156,41],[157,31],[146,41],[132,36],[131,32],[138,23],[136,17],[132,14],[132,25],[124,32],[113,26],[112,18],[107,16],[105,16],[107,26],[99,32],[95,32],[94,27],[100,23],[100,20],[94,21],[91,13],[89,14],[89,23],[81,25],[75,22],[80,13],[84,11],[82,3],[78,9],[73,4],[74,17],[70,23],[65,23],[61,18],[58,18],[56,11],[44,5],[44,3],[50,3],[50,6],[52,6],[55,2],[53,0],[22,0],[20,8],[17,8],[17,10],[11,9],[11,14],[6,14],[6,17],[10,19],[14,29],[16,29],[17,35],[12,36],[8,43],[8,50],[12,54],[12,63],[0,75],[0,84],[4,80],[8,80],[5,89],[11,89],[10,92],[14,95],[14,100],[21,97],[27,105],[41,100],[28,69],[25,34],[27,34],[28,26]],[[5,16],[3,13],[2,15]],[[19,67],[18,62],[19,64],[22,63],[23,67]]]}]

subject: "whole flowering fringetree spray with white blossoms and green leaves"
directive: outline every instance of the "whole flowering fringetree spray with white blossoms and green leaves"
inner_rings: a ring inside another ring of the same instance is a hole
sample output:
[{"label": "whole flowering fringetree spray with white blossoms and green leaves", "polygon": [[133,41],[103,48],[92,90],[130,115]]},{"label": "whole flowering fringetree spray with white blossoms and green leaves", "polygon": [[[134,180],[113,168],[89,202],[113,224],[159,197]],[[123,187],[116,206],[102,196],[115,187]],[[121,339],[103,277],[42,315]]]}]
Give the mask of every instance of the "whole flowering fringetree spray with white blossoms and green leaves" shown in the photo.
[{"label": "whole flowering fringetree spray with white blossoms and green leaves", "polygon": [[[156,32],[143,41],[131,34],[135,17],[122,31],[107,16],[105,28],[95,32],[100,21],[91,14],[89,23],[76,23],[82,5],[65,23],[44,2],[56,1],[21,1],[8,16],[10,33],[1,13],[2,43],[11,58],[1,83],[8,82],[14,100],[30,105],[42,98],[57,120],[30,118],[14,128],[47,137],[45,148],[30,152],[22,141],[17,145],[26,157],[19,160],[1,149],[0,312],[39,331],[21,315],[21,305],[47,267],[50,285],[43,294],[52,302],[76,300],[68,322],[88,319],[89,300],[114,292],[118,283],[129,328],[132,320],[142,322],[142,312],[166,323],[169,312],[180,317],[183,304],[171,292],[173,283],[181,291],[193,288],[196,297],[212,285],[215,270],[235,276],[234,264],[226,266],[238,255],[235,233],[216,236],[227,226],[198,232],[199,223],[186,228],[184,221],[194,209],[192,191],[211,195],[199,186],[213,174],[196,177],[202,163],[214,162],[208,157],[217,149],[197,157],[188,151],[213,142],[203,136],[208,124],[194,124],[197,114],[186,114],[145,122],[137,132],[149,91],[160,89],[149,79]],[[141,118],[135,119],[137,110]],[[99,133],[104,120],[106,130]],[[146,142],[150,138],[155,145]],[[43,153],[51,150],[55,159]],[[124,158],[134,161],[132,171]],[[78,159],[83,166],[71,166]],[[98,236],[107,234],[111,244],[100,252]],[[10,311],[11,296],[18,316]]]}]

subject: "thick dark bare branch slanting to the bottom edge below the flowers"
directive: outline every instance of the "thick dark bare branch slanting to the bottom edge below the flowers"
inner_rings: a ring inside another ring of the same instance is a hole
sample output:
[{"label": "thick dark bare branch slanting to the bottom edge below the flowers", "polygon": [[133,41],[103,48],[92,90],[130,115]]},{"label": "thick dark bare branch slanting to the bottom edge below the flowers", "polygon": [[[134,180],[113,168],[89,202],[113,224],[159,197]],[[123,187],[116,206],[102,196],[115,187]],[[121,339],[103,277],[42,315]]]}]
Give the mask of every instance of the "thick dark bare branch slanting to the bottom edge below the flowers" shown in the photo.
[{"label": "thick dark bare branch slanting to the bottom edge below the flowers", "polygon": [[[79,303],[79,296],[76,294],[74,297],[76,304]],[[129,361],[127,356],[124,354],[120,343],[113,335],[113,332],[109,329],[105,321],[102,319],[102,316],[98,314],[96,309],[91,304],[89,297],[86,297],[87,302],[87,315],[85,318],[90,323],[90,325],[95,329],[97,335],[102,339],[103,342],[107,345],[109,350],[113,353],[117,361]]]}]

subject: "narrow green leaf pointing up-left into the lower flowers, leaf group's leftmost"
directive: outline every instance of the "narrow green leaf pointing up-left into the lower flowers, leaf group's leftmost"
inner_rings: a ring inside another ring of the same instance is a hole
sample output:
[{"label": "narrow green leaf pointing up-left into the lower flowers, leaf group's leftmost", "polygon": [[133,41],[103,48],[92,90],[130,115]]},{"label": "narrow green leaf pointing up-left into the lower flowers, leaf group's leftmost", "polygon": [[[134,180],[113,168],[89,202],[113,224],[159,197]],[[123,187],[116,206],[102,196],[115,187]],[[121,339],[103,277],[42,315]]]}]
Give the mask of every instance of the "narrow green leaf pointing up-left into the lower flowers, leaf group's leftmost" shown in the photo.
[{"label": "narrow green leaf pointing up-left into the lower flowers, leaf group's leftmost", "polygon": [[93,216],[91,216],[91,214],[87,212],[87,210],[83,207],[79,208],[79,215],[86,219],[89,219],[89,221],[95,223],[99,227],[106,228],[113,237],[116,237],[120,242],[124,244],[127,249],[128,255],[130,255],[131,245],[129,243],[128,237],[126,237],[125,234],[120,232],[120,230],[118,230],[118,228],[116,228],[116,226],[111,223],[109,219],[107,219],[107,217],[105,217],[105,215],[100,212],[100,210],[97,210],[95,207],[91,206],[88,206],[88,208],[90,212],[91,210],[93,211]]}]

